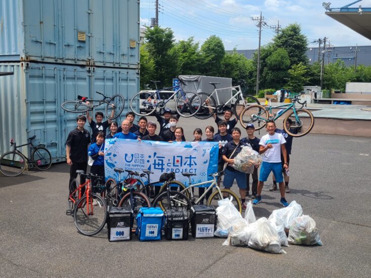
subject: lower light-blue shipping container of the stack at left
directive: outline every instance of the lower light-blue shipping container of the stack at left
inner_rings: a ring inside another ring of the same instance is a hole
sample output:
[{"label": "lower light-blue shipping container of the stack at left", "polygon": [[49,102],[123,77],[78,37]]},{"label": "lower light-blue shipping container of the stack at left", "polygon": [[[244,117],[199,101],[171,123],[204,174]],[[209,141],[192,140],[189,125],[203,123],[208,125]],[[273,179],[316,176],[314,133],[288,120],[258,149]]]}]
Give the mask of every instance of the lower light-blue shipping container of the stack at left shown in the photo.
[{"label": "lower light-blue shipping container of the stack at left", "polygon": [[[78,95],[101,99],[96,91],[125,99],[125,109],[119,122],[128,112],[129,100],[139,91],[139,70],[45,64],[32,62],[0,63],[0,72],[14,75],[0,77],[0,153],[10,150],[10,140],[18,145],[36,135],[35,145],[44,145],[53,162],[65,160],[68,133],[76,127],[76,113],[61,108],[67,100]],[[93,111],[104,112],[102,105]],[[86,128],[90,130],[89,124]],[[28,153],[23,148],[24,154]]]}]

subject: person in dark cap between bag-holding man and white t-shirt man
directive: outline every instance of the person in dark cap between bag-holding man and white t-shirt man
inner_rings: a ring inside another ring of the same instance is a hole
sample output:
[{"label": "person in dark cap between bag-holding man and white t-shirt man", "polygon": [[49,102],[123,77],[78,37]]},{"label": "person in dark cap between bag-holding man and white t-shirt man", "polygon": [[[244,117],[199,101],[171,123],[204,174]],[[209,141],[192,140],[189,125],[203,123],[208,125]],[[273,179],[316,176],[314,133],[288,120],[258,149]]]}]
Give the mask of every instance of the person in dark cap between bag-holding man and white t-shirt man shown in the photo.
[{"label": "person in dark cap between bag-holding man and white t-shirt man", "polygon": [[[259,154],[259,142],[260,139],[254,135],[255,126],[252,123],[249,123],[246,126],[246,132],[248,132],[248,136],[241,139],[242,142],[246,143],[250,146],[254,151]],[[253,183],[251,187],[251,199],[255,199],[258,193],[258,167],[254,168],[254,172],[252,173]],[[249,196],[250,191],[250,174],[246,174],[246,196]]]}]

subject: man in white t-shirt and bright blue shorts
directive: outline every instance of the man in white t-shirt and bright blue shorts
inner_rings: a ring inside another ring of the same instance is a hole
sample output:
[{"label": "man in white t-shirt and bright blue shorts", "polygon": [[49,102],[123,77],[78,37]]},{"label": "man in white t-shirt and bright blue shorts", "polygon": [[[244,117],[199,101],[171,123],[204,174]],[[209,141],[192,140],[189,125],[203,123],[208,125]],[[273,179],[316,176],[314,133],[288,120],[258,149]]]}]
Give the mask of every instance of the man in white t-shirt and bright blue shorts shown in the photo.
[{"label": "man in white t-shirt and bright blue shorts", "polygon": [[257,205],[262,201],[262,189],[264,181],[268,179],[270,172],[273,172],[276,181],[279,183],[279,191],[281,193],[281,200],[279,201],[282,206],[287,207],[288,203],[284,198],[285,189],[282,176],[281,153],[283,156],[283,169],[288,171],[287,153],[284,144],[286,140],[283,135],[275,132],[276,124],[274,121],[267,122],[268,134],[264,135],[260,140],[259,153],[264,154],[262,166],[260,168],[258,195],[253,204]]}]

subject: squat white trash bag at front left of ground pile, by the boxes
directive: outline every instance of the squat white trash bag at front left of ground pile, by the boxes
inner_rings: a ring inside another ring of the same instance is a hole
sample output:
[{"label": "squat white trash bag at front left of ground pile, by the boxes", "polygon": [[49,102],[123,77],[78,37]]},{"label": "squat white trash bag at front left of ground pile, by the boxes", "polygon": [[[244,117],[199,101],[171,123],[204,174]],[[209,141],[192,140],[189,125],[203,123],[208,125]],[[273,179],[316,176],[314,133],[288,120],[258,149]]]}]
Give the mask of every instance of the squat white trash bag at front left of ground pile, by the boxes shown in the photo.
[{"label": "squat white trash bag at front left of ground pile, by the boxes", "polygon": [[228,238],[223,243],[227,246],[247,246],[251,236],[251,225],[241,218],[235,220],[228,229]]}]

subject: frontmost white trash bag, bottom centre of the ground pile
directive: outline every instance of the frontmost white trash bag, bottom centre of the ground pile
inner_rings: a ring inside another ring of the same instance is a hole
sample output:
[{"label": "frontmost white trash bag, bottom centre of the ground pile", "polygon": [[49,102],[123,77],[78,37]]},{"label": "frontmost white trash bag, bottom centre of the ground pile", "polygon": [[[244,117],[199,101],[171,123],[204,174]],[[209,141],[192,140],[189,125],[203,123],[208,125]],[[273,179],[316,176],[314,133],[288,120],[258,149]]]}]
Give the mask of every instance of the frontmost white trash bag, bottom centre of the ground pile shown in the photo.
[{"label": "frontmost white trash bag, bottom centre of the ground pile", "polygon": [[281,241],[272,222],[262,217],[255,223],[250,224],[251,237],[248,246],[254,249],[267,251],[270,253],[286,253],[281,248]]}]

